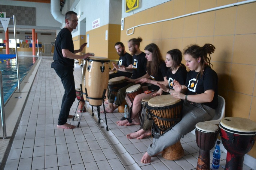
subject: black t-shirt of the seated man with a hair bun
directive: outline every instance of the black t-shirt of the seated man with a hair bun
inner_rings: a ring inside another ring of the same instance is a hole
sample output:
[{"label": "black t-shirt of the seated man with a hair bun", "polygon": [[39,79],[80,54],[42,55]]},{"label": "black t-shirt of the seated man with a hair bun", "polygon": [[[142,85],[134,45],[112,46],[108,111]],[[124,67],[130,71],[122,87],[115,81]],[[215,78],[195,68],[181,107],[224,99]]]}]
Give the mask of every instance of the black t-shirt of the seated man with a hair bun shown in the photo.
[{"label": "black t-shirt of the seated man with a hair bun", "polygon": [[144,52],[139,55],[133,55],[133,75],[131,79],[142,77],[147,72],[147,59]]}]

